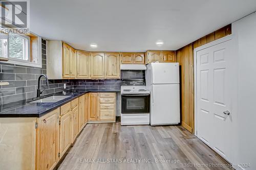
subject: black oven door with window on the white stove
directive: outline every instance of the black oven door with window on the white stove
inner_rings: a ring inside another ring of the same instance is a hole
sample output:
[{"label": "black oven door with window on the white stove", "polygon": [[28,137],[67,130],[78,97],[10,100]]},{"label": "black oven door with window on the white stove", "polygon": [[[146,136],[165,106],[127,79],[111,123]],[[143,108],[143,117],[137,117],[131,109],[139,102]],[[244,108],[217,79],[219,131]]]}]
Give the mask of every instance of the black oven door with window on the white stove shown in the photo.
[{"label": "black oven door with window on the white stove", "polygon": [[122,114],[150,113],[150,94],[122,94]]}]

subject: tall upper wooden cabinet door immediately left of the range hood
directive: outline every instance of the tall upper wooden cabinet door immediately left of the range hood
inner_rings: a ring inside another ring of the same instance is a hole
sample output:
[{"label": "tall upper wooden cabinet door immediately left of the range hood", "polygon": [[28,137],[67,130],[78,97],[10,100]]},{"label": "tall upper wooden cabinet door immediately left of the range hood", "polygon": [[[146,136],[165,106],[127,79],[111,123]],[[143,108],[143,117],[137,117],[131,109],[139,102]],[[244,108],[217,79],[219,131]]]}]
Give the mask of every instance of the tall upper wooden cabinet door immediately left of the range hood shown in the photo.
[{"label": "tall upper wooden cabinet door immediately left of the range hood", "polygon": [[119,53],[105,53],[105,78],[120,78]]}]

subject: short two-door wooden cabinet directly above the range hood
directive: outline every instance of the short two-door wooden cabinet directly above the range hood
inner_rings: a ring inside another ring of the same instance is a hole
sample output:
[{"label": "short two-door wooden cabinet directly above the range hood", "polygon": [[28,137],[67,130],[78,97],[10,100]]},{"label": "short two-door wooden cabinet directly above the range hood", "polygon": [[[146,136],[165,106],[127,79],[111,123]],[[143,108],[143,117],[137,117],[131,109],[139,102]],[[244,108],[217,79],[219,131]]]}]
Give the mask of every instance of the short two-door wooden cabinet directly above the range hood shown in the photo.
[{"label": "short two-door wooden cabinet directly above the range hood", "polygon": [[144,64],[144,53],[121,53],[122,64]]}]

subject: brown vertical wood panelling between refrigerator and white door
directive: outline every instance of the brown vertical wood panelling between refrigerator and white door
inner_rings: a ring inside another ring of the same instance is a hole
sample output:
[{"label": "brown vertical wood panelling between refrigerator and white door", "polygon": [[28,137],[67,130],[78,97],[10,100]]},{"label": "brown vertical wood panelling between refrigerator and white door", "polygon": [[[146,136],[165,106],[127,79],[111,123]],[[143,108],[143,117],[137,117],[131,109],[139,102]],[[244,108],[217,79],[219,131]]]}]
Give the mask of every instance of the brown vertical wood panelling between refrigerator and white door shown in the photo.
[{"label": "brown vertical wood panelling between refrigerator and white door", "polygon": [[212,32],[176,51],[181,65],[181,125],[195,133],[194,113],[194,48],[231,34],[231,24]]}]

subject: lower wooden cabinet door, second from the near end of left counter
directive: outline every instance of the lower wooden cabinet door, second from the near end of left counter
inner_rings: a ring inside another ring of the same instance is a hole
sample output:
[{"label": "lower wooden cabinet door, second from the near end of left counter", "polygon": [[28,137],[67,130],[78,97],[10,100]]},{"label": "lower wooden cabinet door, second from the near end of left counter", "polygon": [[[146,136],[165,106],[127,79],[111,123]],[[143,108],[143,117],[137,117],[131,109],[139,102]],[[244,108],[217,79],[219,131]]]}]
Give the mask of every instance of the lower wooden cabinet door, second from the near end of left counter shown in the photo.
[{"label": "lower wooden cabinet door, second from the near end of left counter", "polygon": [[71,111],[60,117],[59,129],[59,153],[60,158],[65,154],[71,145]]}]

